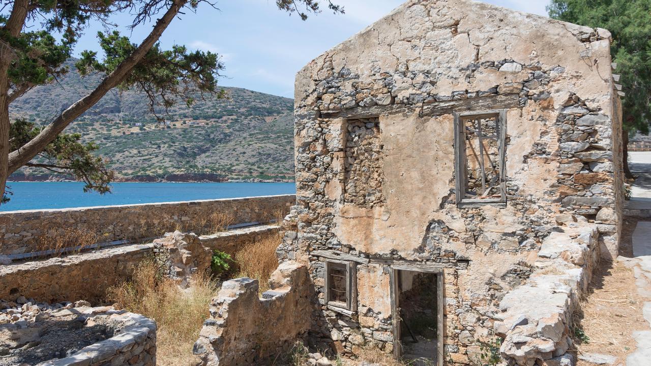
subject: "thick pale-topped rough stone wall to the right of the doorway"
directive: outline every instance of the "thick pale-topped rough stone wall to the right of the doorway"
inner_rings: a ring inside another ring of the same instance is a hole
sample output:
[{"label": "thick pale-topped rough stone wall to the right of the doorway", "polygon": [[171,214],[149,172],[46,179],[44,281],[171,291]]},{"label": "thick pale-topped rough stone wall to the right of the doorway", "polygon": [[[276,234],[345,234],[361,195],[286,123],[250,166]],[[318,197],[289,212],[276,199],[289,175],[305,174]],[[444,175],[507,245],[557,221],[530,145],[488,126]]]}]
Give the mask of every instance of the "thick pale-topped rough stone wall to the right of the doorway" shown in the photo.
[{"label": "thick pale-topped rough stone wall to the right of the doorway", "polygon": [[500,351],[510,364],[574,365],[566,353],[572,347],[572,314],[600,258],[598,232],[609,229],[600,226],[570,223],[551,232],[529,281],[501,300],[493,330],[505,339]]}]

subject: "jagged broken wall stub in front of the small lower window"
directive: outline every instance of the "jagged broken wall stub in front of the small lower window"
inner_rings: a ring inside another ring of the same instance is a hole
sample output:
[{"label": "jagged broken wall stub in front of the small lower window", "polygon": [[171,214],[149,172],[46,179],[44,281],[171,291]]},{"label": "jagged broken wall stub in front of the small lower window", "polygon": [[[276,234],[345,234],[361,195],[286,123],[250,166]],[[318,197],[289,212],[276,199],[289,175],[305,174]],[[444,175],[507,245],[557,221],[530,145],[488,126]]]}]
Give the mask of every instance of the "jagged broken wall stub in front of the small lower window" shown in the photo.
[{"label": "jagged broken wall stub in front of the small lower window", "polygon": [[312,324],[307,266],[284,262],[269,282],[262,298],[256,279],[223,283],[193,350],[203,365],[267,365],[305,337]]}]

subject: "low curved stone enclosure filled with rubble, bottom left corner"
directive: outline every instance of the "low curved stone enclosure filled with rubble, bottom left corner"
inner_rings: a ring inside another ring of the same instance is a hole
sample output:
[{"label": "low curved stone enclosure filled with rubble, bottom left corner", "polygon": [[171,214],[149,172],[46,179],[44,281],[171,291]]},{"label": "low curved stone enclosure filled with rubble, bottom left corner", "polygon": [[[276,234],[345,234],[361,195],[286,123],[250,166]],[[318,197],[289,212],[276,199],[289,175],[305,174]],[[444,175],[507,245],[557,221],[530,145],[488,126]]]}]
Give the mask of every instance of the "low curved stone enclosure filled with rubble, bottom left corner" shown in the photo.
[{"label": "low curved stone enclosure filled with rubble, bottom left corner", "polygon": [[156,323],[111,306],[0,301],[0,365],[156,365]]}]

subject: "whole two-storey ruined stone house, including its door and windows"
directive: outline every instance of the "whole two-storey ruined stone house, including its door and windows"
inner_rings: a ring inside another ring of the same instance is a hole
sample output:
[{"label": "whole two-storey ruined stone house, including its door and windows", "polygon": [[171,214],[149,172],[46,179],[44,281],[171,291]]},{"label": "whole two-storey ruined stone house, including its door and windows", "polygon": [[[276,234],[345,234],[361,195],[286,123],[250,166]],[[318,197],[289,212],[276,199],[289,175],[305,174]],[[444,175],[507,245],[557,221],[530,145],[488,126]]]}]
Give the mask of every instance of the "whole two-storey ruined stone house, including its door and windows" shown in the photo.
[{"label": "whole two-storey ruined stone house, including its door and windows", "polygon": [[410,0],[298,72],[281,254],[309,262],[312,345],[442,365],[501,337],[514,363],[569,362],[568,309],[618,252],[611,66],[604,29]]}]

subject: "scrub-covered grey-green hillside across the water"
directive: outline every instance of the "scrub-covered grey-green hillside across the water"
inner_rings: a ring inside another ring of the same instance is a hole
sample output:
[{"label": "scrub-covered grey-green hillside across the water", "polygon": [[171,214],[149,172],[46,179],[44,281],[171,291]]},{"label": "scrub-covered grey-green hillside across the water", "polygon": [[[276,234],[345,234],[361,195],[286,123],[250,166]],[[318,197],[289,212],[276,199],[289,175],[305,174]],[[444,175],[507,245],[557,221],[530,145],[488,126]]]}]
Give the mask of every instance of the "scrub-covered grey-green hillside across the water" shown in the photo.
[{"label": "scrub-covered grey-green hillside across the water", "polygon": [[[99,76],[70,73],[58,83],[27,92],[11,105],[12,117],[47,122],[87,94]],[[176,104],[165,125],[149,113],[135,91],[111,91],[66,132],[79,132],[100,145],[118,180],[293,180],[293,101],[226,87],[227,99],[199,98]],[[44,102],[47,101],[47,102]],[[13,180],[59,179],[39,169],[21,169]]]}]

